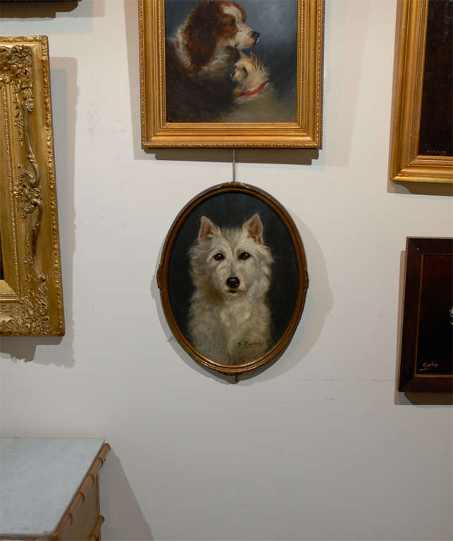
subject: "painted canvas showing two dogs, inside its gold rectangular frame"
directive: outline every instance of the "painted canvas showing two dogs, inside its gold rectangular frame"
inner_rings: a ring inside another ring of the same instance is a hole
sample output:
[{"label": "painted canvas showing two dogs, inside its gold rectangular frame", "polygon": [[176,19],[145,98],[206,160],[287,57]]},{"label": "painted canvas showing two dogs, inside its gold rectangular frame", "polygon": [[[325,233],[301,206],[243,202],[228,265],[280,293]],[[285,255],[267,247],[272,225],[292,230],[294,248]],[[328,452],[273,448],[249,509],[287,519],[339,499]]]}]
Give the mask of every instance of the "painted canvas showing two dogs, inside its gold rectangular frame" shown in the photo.
[{"label": "painted canvas showing two dogs, inside its gold rectangular frame", "polygon": [[166,0],[168,122],[295,122],[297,0]]}]

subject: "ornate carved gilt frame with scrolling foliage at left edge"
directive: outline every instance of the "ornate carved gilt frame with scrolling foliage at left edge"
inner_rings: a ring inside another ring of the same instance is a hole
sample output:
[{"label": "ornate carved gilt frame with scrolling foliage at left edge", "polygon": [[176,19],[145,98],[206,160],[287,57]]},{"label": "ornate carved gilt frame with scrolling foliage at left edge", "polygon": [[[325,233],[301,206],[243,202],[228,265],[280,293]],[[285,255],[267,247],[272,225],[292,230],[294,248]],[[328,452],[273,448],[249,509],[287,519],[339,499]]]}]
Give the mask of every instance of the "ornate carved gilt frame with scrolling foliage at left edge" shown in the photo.
[{"label": "ornate carved gilt frame with scrolling foliage at left edge", "polygon": [[0,37],[1,336],[64,335],[49,48]]}]

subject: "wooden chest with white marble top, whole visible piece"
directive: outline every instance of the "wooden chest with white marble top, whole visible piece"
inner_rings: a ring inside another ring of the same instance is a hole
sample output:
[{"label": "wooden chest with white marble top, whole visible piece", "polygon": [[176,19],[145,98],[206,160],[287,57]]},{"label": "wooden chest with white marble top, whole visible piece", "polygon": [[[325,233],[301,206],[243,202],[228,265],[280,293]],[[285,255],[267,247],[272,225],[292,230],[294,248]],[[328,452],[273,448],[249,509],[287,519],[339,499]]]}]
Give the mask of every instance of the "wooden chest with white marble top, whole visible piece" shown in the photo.
[{"label": "wooden chest with white marble top, whole visible piece", "polygon": [[109,449],[91,438],[2,438],[0,540],[100,540],[99,469]]}]

